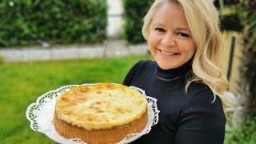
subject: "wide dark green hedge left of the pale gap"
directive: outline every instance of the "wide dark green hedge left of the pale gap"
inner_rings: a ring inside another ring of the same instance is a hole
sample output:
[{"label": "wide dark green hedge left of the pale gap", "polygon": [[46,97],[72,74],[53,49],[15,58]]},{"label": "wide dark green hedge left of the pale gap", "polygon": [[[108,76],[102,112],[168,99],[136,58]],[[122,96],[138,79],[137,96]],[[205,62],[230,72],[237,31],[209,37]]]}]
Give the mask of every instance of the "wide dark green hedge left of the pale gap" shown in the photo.
[{"label": "wide dark green hedge left of the pale gap", "polygon": [[106,12],[106,0],[2,0],[0,46],[102,42]]}]

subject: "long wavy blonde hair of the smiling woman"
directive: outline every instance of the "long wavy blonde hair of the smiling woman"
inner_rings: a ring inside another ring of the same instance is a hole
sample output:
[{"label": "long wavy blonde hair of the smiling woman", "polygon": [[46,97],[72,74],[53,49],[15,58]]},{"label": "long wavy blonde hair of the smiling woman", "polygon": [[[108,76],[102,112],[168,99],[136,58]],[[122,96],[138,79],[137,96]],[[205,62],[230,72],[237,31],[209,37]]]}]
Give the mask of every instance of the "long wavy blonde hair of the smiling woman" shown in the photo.
[{"label": "long wavy blonde hair of the smiling woman", "polygon": [[192,64],[193,77],[186,82],[186,93],[191,82],[199,81],[209,86],[210,90],[213,91],[213,102],[217,94],[224,107],[230,106],[224,99],[228,81],[218,67],[222,52],[222,34],[218,27],[218,11],[209,0],[155,0],[144,18],[144,26],[142,27],[142,34],[147,41],[154,11],[166,2],[176,2],[182,7],[197,47]]}]

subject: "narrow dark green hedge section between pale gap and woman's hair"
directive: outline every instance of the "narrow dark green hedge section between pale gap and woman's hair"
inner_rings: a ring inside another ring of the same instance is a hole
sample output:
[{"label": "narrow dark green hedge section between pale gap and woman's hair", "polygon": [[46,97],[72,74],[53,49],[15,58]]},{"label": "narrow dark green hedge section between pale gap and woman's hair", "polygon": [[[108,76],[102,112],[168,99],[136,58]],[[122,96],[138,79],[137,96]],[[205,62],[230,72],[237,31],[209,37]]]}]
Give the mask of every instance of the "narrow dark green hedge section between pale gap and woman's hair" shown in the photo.
[{"label": "narrow dark green hedge section between pale gap and woman's hair", "polygon": [[130,43],[145,42],[142,36],[143,18],[154,0],[122,0],[125,9],[125,38]]}]

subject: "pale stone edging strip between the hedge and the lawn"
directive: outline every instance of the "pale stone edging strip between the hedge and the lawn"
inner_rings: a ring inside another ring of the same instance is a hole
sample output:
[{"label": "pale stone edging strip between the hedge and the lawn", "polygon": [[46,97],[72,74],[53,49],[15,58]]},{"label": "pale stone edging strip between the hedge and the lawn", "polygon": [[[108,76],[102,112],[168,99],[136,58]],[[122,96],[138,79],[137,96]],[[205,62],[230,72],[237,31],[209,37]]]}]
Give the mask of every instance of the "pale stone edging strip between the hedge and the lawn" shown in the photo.
[{"label": "pale stone edging strip between the hedge and the lawn", "polygon": [[75,58],[108,58],[146,54],[148,46],[65,46],[58,48],[11,48],[0,50],[3,62],[49,61]]}]

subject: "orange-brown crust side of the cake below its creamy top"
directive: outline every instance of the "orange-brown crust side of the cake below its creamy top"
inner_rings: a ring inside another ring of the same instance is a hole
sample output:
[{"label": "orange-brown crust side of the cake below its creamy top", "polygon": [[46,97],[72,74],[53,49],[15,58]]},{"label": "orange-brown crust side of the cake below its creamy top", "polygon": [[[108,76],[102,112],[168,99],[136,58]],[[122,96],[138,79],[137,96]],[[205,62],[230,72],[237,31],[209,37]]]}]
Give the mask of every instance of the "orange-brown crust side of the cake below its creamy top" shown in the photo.
[{"label": "orange-brown crust side of the cake below its creamy top", "polygon": [[148,114],[146,110],[141,118],[124,126],[116,126],[111,129],[86,130],[78,126],[72,126],[54,114],[54,126],[58,134],[65,138],[79,138],[83,142],[92,144],[120,142],[127,134],[141,132],[145,128],[147,121]]}]

